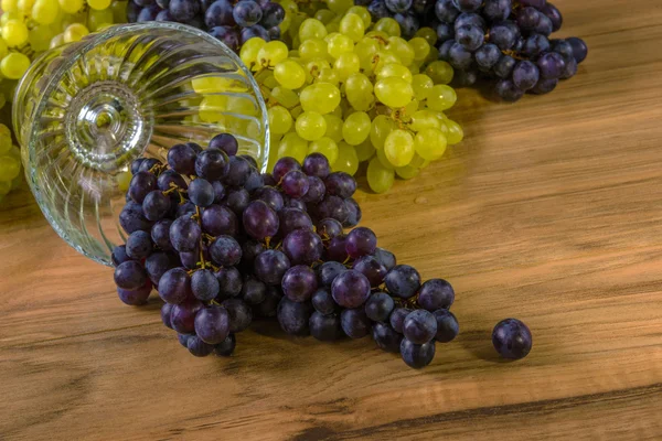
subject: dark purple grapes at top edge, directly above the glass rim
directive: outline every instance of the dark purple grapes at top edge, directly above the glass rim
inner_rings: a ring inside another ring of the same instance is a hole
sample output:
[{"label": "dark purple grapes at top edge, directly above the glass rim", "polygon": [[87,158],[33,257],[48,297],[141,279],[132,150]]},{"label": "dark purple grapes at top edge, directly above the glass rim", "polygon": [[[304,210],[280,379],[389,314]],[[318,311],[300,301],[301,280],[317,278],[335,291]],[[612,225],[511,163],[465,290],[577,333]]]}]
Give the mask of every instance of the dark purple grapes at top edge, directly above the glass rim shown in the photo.
[{"label": "dark purple grapes at top edge, directly above the glass rim", "polygon": [[173,21],[204,30],[238,52],[254,36],[280,39],[285,10],[269,0],[129,0],[129,23]]}]

